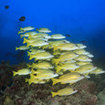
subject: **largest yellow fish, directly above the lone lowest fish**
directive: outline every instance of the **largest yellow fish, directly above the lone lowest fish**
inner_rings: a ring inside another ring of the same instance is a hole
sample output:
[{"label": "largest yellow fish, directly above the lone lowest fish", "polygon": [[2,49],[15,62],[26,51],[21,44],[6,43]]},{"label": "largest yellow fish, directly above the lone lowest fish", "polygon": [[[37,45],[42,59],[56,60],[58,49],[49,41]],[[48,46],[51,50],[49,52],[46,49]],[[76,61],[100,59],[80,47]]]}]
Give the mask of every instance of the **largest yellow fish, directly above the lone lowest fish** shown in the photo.
[{"label": "largest yellow fish, directly above the lone lowest fish", "polygon": [[67,73],[67,74],[60,76],[58,79],[53,78],[52,81],[53,81],[53,85],[55,85],[59,82],[61,84],[66,84],[66,83],[73,84],[73,83],[76,83],[84,78],[85,78],[85,76],[83,76],[79,73]]}]

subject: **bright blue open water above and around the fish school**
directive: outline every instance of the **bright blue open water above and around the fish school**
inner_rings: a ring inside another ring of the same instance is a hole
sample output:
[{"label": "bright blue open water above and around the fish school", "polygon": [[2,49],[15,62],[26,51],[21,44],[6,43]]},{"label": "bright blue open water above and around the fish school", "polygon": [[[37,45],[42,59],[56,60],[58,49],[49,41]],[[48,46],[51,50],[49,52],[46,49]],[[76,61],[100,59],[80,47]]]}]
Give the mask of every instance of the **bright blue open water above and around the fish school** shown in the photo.
[{"label": "bright blue open water above and around the fish school", "polygon": [[95,58],[105,58],[105,0],[0,0],[0,61],[24,60],[15,48],[22,43],[17,33],[26,26],[70,34],[68,40],[85,42]]}]

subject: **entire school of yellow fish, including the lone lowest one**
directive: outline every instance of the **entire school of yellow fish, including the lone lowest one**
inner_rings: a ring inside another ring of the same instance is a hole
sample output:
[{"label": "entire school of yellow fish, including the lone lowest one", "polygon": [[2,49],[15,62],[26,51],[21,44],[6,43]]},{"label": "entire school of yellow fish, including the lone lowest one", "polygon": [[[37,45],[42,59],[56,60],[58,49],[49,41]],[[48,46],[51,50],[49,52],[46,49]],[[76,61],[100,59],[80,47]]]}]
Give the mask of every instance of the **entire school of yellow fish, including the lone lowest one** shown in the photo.
[{"label": "entire school of yellow fish, including the lone lowest one", "polygon": [[29,75],[25,79],[29,85],[46,84],[50,81],[54,86],[57,83],[70,85],[51,92],[52,97],[75,94],[78,89],[71,88],[72,84],[90,77],[90,74],[105,73],[92,64],[93,55],[85,50],[85,45],[71,43],[62,34],[51,35],[48,28],[35,29],[31,26],[21,28],[19,33],[23,33],[20,37],[23,38],[24,45],[16,50],[26,50],[32,62],[26,68],[13,71],[13,76]]}]

